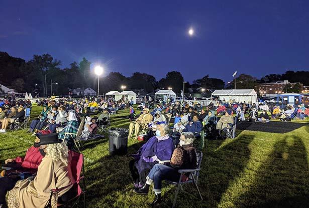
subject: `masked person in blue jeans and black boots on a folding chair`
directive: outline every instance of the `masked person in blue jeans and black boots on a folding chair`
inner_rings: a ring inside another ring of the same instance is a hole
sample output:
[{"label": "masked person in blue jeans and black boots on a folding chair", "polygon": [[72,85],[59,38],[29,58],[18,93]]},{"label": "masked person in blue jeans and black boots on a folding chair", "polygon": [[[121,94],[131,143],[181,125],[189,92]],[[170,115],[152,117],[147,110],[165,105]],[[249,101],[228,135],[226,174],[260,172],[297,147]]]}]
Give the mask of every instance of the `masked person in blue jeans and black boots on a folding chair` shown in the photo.
[{"label": "masked person in blue jeans and black boots on a folding chair", "polygon": [[[178,182],[181,176],[179,169],[196,169],[197,153],[193,147],[194,135],[191,132],[183,132],[180,136],[179,145],[173,151],[169,164],[155,164],[146,177],[146,183],[141,188],[134,191],[140,195],[147,195],[149,187],[154,183],[155,198],[151,206],[158,205],[161,202],[162,180]],[[188,174],[185,174],[182,181],[188,180]]]}]

